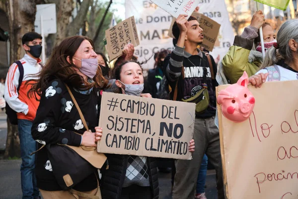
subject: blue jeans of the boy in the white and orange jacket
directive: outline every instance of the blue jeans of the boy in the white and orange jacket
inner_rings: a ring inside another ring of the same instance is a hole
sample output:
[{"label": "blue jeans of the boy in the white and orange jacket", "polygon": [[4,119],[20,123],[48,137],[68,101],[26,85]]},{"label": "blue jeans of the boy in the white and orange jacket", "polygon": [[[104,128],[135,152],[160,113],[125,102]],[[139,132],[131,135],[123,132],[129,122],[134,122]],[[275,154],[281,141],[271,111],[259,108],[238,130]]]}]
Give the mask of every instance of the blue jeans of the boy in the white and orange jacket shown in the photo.
[{"label": "blue jeans of the boy in the white and orange jacket", "polygon": [[35,154],[37,142],[31,135],[32,121],[26,119],[18,120],[18,131],[21,145],[21,187],[22,199],[34,199],[39,196],[35,178]]}]

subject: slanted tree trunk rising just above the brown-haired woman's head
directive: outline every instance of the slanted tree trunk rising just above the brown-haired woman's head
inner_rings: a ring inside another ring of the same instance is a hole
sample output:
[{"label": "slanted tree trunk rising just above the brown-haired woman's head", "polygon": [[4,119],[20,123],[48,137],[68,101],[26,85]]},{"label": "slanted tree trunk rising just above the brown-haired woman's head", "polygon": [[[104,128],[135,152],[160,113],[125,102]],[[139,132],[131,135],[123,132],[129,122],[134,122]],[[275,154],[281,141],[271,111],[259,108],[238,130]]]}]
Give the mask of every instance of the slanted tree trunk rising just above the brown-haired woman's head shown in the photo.
[{"label": "slanted tree trunk rising just above the brown-haired woman's head", "polygon": [[74,20],[67,26],[67,36],[74,36],[78,32],[78,30],[83,26],[89,9],[89,5],[90,0],[83,0]]}]

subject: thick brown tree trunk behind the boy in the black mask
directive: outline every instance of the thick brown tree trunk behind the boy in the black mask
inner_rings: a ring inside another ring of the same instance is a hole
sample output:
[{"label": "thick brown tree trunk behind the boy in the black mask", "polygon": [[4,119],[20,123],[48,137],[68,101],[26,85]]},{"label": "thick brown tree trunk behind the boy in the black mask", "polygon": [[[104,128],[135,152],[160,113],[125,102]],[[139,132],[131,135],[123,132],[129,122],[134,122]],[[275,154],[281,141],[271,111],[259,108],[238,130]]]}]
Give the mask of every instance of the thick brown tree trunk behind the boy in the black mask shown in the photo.
[{"label": "thick brown tree trunk behind the boy in the black mask", "polygon": [[[35,0],[6,0],[6,13],[9,21],[10,64],[24,56],[22,36],[34,31],[36,14]],[[16,125],[7,119],[7,140],[4,157],[20,157],[20,141]]]}]

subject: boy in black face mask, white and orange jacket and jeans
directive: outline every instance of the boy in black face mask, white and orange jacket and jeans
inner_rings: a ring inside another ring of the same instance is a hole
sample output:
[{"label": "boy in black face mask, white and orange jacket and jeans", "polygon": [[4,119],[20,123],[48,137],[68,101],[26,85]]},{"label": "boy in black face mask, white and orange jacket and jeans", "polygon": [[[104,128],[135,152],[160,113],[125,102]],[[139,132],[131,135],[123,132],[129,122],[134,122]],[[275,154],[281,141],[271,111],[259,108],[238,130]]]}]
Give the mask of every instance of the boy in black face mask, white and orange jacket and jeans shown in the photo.
[{"label": "boy in black face mask, white and orange jacket and jeans", "polygon": [[[8,70],[4,98],[9,107],[16,112],[19,139],[21,146],[21,186],[23,199],[40,199],[35,179],[35,155],[37,142],[32,138],[31,127],[35,118],[39,101],[29,99],[27,93],[31,89],[31,75],[41,70],[39,59],[42,50],[42,36],[36,32],[28,32],[22,37],[25,56],[18,64],[13,63]],[[7,112],[7,111],[6,111]],[[8,117],[9,118],[9,117]],[[10,121],[11,122],[11,121]]]}]

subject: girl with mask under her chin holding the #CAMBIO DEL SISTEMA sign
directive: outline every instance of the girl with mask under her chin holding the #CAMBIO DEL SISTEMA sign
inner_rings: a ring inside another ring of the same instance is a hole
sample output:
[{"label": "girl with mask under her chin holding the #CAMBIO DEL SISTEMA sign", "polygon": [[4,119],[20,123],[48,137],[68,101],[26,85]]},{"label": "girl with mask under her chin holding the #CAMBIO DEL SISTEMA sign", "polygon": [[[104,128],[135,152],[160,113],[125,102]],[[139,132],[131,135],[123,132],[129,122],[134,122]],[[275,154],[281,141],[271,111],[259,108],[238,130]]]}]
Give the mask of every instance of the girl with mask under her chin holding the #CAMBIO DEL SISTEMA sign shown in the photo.
[{"label": "girl with mask under her chin holding the #CAMBIO DEL SISTEMA sign", "polygon": [[[142,67],[126,61],[115,69],[119,93],[151,98],[142,94],[144,77]],[[142,95],[141,95],[142,94]],[[194,140],[189,151],[194,151]],[[155,158],[133,155],[106,154],[109,168],[103,171],[101,194],[108,199],[157,199],[159,194]]]}]

